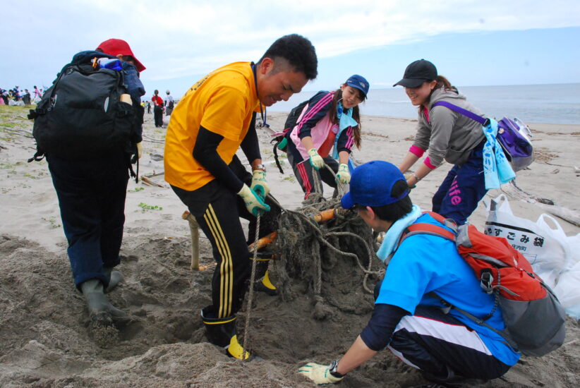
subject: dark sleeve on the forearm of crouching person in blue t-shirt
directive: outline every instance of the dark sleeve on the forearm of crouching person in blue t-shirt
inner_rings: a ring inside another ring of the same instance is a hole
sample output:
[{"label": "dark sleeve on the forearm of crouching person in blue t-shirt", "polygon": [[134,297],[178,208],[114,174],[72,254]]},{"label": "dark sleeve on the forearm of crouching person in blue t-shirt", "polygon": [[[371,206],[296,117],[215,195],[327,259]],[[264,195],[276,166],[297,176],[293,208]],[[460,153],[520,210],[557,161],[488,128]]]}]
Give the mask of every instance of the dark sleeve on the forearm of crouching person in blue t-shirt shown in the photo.
[{"label": "dark sleeve on the forearm of crouching person in blue t-shirt", "polygon": [[395,305],[376,304],[373,315],[361,332],[361,339],[373,351],[381,351],[389,344],[394,328],[405,315],[409,312]]}]

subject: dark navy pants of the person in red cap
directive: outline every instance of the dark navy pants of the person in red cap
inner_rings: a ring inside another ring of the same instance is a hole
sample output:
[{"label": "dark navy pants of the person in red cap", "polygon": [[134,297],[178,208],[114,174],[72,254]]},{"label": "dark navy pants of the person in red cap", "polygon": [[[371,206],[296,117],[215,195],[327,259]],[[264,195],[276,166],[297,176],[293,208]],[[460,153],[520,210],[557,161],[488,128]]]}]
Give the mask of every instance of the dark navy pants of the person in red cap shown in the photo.
[{"label": "dark navy pants of the person in red cap", "polygon": [[119,264],[125,223],[128,157],[119,152],[90,160],[47,156],[59,198],[68,259],[77,288],[83,281],[109,279],[103,267]]}]

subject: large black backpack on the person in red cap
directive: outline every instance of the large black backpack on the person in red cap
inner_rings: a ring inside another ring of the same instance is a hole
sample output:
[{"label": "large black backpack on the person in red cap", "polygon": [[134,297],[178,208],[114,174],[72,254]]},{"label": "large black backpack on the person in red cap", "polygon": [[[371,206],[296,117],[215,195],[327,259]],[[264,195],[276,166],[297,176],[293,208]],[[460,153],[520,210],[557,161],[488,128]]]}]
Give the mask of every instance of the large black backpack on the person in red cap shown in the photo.
[{"label": "large black backpack on the person in red cap", "polygon": [[64,66],[28,115],[35,121],[32,135],[37,143],[37,152],[28,162],[42,160],[44,154],[68,160],[114,150],[131,154],[135,109],[121,101],[121,95],[127,94],[123,83],[122,71],[93,68],[90,63]]}]

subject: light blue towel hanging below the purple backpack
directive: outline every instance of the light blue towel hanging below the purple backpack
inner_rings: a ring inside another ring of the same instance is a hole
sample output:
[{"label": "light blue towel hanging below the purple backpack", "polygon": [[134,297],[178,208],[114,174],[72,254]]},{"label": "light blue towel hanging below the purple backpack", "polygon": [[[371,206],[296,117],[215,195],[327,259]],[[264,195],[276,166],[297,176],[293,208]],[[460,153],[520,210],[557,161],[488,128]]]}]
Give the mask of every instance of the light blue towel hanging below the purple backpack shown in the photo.
[{"label": "light blue towel hanging below the purple backpack", "polygon": [[504,150],[497,140],[497,121],[490,119],[488,126],[482,126],[487,141],[483,145],[483,174],[485,189],[500,188],[500,185],[516,177],[512,165],[505,157]]}]

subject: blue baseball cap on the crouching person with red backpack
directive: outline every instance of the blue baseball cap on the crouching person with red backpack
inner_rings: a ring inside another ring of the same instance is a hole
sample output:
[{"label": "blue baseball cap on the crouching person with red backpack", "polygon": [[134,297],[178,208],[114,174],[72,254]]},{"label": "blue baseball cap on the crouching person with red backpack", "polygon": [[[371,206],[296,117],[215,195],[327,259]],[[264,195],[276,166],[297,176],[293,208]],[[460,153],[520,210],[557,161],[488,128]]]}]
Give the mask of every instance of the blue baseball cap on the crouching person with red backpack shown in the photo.
[{"label": "blue baseball cap on the crouching person with red backpack", "polygon": [[354,169],[351,176],[351,190],[342,197],[340,203],[344,209],[351,209],[354,205],[383,206],[399,202],[409,195],[409,190],[405,190],[397,198],[391,197],[392,188],[398,181],[406,181],[406,179],[399,168],[392,163],[373,160],[373,162],[361,164]]}]

